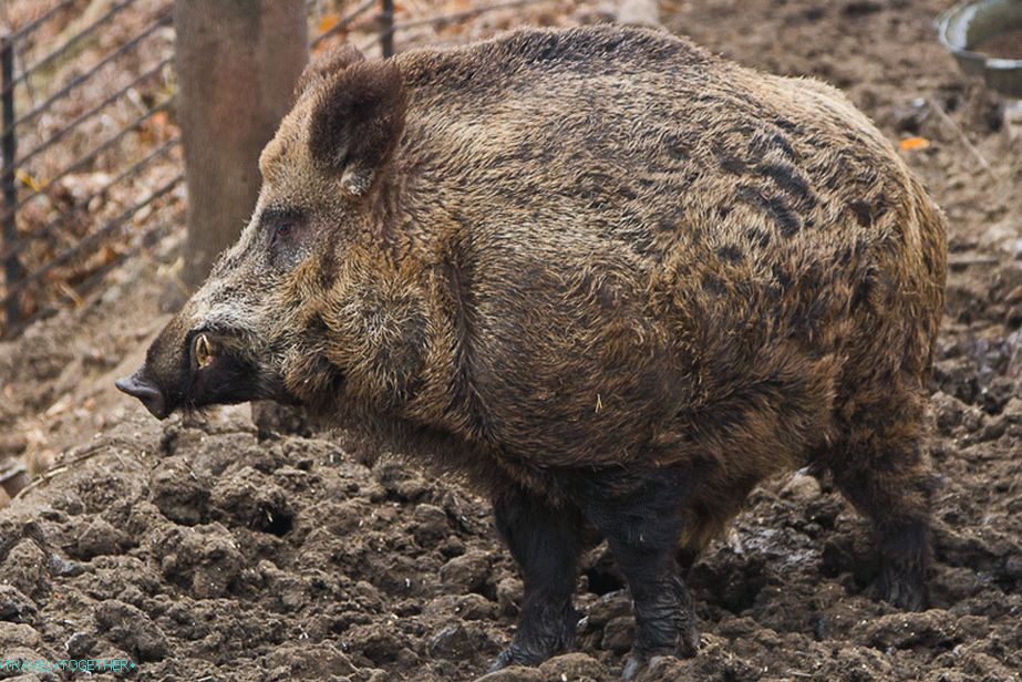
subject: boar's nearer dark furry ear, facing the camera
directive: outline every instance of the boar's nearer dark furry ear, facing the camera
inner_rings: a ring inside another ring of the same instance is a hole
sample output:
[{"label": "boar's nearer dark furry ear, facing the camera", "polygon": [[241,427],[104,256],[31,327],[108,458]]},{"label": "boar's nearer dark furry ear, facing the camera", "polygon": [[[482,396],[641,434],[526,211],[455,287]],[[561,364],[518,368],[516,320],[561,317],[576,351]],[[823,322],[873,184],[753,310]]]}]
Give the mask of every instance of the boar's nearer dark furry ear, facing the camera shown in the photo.
[{"label": "boar's nearer dark furry ear, facing the camera", "polygon": [[404,128],[401,72],[389,61],[359,62],[316,96],[309,132],[312,158],[337,173],[345,192],[362,195]]}]

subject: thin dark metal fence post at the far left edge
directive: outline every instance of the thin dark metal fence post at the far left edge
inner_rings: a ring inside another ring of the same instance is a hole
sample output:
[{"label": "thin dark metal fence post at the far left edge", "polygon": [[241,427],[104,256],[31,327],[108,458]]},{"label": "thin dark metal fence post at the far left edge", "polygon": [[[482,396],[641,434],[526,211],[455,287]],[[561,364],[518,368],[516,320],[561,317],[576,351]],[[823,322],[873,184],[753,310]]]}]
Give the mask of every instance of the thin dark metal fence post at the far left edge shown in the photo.
[{"label": "thin dark metal fence post at the far left edge", "polygon": [[[3,131],[3,138],[0,140],[0,154],[3,155],[3,172],[0,174],[0,185],[3,187],[3,240],[0,242],[0,251],[8,251],[3,259],[3,276],[7,286],[10,287],[21,278],[21,262],[14,248],[18,240],[18,187],[14,184],[18,142],[14,136],[14,39],[10,33],[0,37],[0,92],[3,93],[3,102],[0,105],[0,130]],[[4,308],[7,329],[10,330],[18,324],[21,317],[18,297],[11,297]]]}]

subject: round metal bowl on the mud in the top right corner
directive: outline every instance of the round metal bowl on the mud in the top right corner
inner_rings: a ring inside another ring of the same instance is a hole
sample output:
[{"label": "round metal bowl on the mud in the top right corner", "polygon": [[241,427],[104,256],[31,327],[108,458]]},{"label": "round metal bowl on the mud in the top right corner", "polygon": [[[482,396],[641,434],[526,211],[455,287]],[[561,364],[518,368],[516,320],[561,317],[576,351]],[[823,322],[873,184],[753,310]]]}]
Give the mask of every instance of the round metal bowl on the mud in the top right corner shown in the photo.
[{"label": "round metal bowl on the mud in the top right corner", "polygon": [[940,42],[958,60],[961,70],[982,75],[987,86],[1009,97],[1022,97],[1022,45],[1018,59],[975,52],[985,41],[1008,31],[1022,30],[1022,0],[967,0],[937,20]]}]

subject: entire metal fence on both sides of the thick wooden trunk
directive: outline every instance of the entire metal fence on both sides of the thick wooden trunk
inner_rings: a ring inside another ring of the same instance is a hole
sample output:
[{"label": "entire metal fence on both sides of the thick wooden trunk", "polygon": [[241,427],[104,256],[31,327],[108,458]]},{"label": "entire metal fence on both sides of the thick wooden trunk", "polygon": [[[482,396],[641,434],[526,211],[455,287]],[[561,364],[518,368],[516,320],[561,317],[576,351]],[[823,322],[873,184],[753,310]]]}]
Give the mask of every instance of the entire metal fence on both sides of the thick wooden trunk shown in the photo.
[{"label": "entire metal fence on both sides of the thick wooden trunk", "polygon": [[[322,0],[308,0],[310,13],[314,14]],[[353,6],[347,8],[342,17],[338,17],[331,25],[327,27],[310,41],[312,49],[319,48],[324,41],[339,35],[347,35],[352,24],[362,20],[372,20],[373,10],[375,9],[374,28],[369,35],[362,40],[358,46],[367,50],[379,43],[380,53],[383,56],[390,56],[394,53],[394,38],[404,30],[426,27],[430,24],[438,25],[445,22],[455,22],[468,19],[471,17],[485,12],[519,8],[526,4],[541,2],[544,0],[509,0],[503,2],[492,2],[488,4],[472,7],[445,14],[435,14],[431,17],[419,17],[398,21],[395,17],[394,0],[360,0]],[[120,87],[113,89],[99,101],[91,103],[84,111],[74,115],[63,115],[56,110],[66,103],[69,99],[74,99],[82,93],[83,89],[90,83],[97,80],[111,78],[111,73],[118,69],[122,61],[133,53],[137,53],[148,42],[159,37],[166,29],[172,27],[172,0],[156,3],[157,13],[143,28],[137,30],[132,37],[111,49],[107,53],[94,59],[92,63],[75,63],[75,73],[63,85],[56,87],[53,92],[37,96],[32,84],[38,75],[53,68],[62,60],[73,59],[74,51],[85,42],[92,40],[94,35],[111,25],[118,16],[124,16],[125,11],[136,3],[136,0],[120,0],[114,2],[102,16],[90,21],[87,25],[82,27],[70,35],[62,35],[62,42],[53,46],[51,51],[38,58],[30,64],[24,64],[21,56],[25,52],[25,44],[31,42],[33,37],[60,19],[66,19],[69,12],[75,11],[75,0],[58,0],[56,4],[25,25],[0,35],[0,155],[2,155],[2,170],[0,170],[0,194],[2,194],[2,204],[0,204],[0,268],[2,268],[3,288],[0,288],[0,309],[2,309],[2,324],[0,324],[0,335],[10,337],[22,331],[28,324],[52,312],[56,307],[66,300],[81,300],[83,293],[93,287],[96,282],[117,267],[127,258],[134,256],[140,250],[140,245],[151,244],[163,231],[173,227],[166,221],[154,223],[147,221],[144,227],[134,225],[141,229],[141,235],[134,235],[134,248],[118,250],[113,257],[104,259],[99,266],[87,270],[87,276],[75,281],[70,288],[64,286],[63,290],[55,296],[39,294],[31,298],[29,294],[33,288],[39,289],[47,283],[55,269],[69,264],[85,260],[103,249],[113,238],[118,237],[126,227],[133,226],[141,211],[152,207],[161,202],[166,203],[168,195],[183,184],[184,173],[180,169],[179,161],[177,172],[171,177],[162,179],[155,187],[149,187],[148,193],[142,198],[124,206],[122,210],[104,219],[95,219],[92,216],[91,206],[95,199],[102,199],[118,186],[125,186],[134,178],[142,176],[151,170],[152,166],[158,161],[167,158],[177,159],[179,152],[177,147],[180,144],[179,136],[172,136],[167,140],[153,145],[153,147],[141,156],[124,163],[111,173],[111,177],[100,185],[92,188],[86,196],[76,197],[74,206],[68,207],[62,204],[58,196],[61,187],[61,180],[75,173],[89,170],[96,167],[97,164],[115,156],[125,142],[125,138],[132,134],[142,131],[155,117],[164,112],[173,111],[174,97],[173,86],[166,87],[169,92],[157,93],[162,96],[135,97],[145,103],[145,106],[138,107],[135,115],[130,120],[121,121],[114,130],[104,138],[95,141],[89,148],[78,154],[76,157],[64,159],[58,158],[43,164],[43,157],[59,151],[62,142],[66,142],[69,136],[75,134],[83,125],[99,117],[106,115],[111,106],[130,97],[132,93],[137,93],[138,89],[152,86],[154,82],[163,81],[167,83],[173,78],[172,63],[174,61],[173,52],[164,55],[148,68],[141,69],[137,75],[130,76],[130,80]],[[152,4],[152,3],[151,3]],[[123,70],[122,70],[123,71]],[[18,93],[22,96],[18,97]],[[37,102],[37,100],[39,100]],[[29,106],[22,106],[24,111],[18,111],[17,103],[30,102]],[[56,116],[60,118],[59,125],[54,127],[44,138],[33,134],[37,122],[45,116]],[[27,132],[29,134],[27,134]],[[33,140],[34,138],[34,140]],[[21,146],[27,143],[28,149],[22,151]],[[47,165],[47,172],[39,170],[40,166]],[[45,177],[44,180],[39,178]],[[39,205],[43,204],[43,208]],[[35,206],[34,215],[45,214],[44,220],[38,225],[29,225],[25,219],[27,209]],[[148,213],[148,211],[147,211]],[[78,225],[75,230],[62,229],[70,221],[79,221],[84,225]],[[33,245],[45,242],[48,249],[45,257],[42,259],[30,258]],[[25,301],[31,300],[30,310],[25,309]]]}]

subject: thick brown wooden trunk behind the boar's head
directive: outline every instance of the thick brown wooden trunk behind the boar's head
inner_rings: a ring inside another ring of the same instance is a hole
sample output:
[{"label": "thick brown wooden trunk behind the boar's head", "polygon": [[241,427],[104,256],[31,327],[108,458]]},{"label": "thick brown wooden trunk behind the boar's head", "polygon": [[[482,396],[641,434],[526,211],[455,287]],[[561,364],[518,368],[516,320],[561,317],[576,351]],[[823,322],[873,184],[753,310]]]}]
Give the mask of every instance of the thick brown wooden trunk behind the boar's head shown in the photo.
[{"label": "thick brown wooden trunk behind the boar's head", "polygon": [[304,0],[176,0],[178,120],[188,189],[185,285],[237,240],[259,193],[259,153],[308,59]]}]

